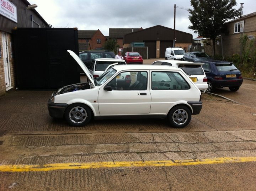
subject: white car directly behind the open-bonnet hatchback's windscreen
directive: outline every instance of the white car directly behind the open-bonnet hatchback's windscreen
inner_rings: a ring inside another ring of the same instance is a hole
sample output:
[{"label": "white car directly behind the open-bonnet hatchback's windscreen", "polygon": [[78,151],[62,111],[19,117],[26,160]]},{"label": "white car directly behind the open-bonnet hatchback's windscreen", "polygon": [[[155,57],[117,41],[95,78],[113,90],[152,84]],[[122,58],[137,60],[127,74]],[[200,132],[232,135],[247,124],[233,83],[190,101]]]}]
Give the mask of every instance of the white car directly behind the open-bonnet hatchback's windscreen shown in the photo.
[{"label": "white car directly behind the open-bonnet hatchback's windscreen", "polygon": [[91,61],[89,66],[89,71],[93,75],[94,78],[99,77],[101,74],[104,73],[105,69],[113,63],[118,64],[126,64],[126,61],[115,59],[115,58],[98,58]]}]

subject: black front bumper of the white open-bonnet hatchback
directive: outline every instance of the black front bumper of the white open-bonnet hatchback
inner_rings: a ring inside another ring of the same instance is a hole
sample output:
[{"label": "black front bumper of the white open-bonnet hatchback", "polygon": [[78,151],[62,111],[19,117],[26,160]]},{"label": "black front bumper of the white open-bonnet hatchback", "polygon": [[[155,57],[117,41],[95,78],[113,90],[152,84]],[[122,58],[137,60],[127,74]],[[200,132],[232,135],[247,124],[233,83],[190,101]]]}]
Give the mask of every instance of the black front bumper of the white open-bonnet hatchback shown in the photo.
[{"label": "black front bumper of the white open-bonnet hatchback", "polygon": [[66,108],[69,106],[66,103],[53,103],[48,100],[49,115],[53,118],[63,118]]}]

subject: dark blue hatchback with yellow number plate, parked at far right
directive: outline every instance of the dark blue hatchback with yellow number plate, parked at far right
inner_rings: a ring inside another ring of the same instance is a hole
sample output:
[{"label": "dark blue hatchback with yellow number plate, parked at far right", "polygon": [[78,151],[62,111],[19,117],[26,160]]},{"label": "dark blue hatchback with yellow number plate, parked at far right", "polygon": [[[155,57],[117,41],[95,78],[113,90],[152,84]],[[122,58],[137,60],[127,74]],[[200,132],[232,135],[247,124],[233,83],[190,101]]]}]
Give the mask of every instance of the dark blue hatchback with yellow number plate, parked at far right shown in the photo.
[{"label": "dark blue hatchback with yellow number plate, parked at far right", "polygon": [[207,77],[207,91],[213,92],[216,88],[223,87],[228,87],[230,91],[237,91],[242,85],[242,74],[232,62],[219,60],[197,62],[204,63],[202,67]]}]

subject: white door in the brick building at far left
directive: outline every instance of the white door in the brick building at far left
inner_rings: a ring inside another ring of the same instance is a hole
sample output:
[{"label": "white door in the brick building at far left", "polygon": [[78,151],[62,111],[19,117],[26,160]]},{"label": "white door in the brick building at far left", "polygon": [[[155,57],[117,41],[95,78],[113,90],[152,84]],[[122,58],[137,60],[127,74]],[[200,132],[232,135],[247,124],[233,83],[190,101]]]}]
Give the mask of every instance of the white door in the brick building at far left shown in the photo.
[{"label": "white door in the brick building at far left", "polygon": [[6,90],[10,88],[10,65],[9,65],[9,56],[8,56],[8,41],[6,33],[2,33],[2,58],[4,61],[4,73],[5,73],[5,86]]}]

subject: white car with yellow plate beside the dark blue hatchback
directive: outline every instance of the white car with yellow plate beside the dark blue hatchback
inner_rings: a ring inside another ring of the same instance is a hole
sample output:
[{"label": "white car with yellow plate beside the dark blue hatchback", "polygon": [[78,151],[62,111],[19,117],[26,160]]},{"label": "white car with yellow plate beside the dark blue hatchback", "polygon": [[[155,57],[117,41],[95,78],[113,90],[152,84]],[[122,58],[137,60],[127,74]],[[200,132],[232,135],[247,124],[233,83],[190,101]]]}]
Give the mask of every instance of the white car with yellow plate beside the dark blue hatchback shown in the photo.
[{"label": "white car with yellow plate beside the dark blue hatchback", "polygon": [[201,91],[206,91],[208,88],[207,77],[203,71],[203,63],[187,62],[180,60],[158,60],[152,65],[167,65],[181,68],[188,77],[196,84],[197,88]]}]

